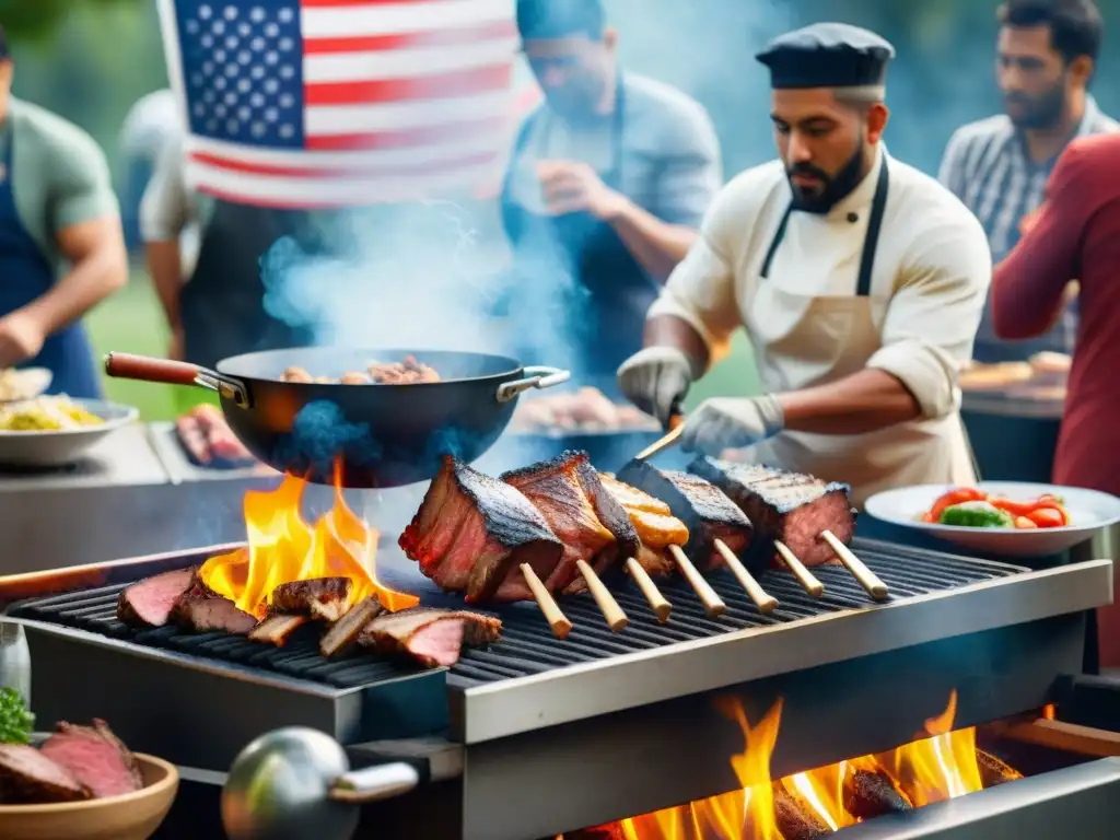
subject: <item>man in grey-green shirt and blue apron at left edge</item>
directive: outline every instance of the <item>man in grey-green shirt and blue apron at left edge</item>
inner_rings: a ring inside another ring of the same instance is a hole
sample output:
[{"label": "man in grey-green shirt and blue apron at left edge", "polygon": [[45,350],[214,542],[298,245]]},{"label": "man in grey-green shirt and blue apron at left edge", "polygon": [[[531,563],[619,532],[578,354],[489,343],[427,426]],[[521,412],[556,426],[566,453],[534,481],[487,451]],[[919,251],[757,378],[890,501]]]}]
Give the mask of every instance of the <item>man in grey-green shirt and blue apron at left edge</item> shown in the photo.
[{"label": "man in grey-green shirt and blue apron at left edge", "polygon": [[82,317],[128,281],[109,165],[76,125],[11,95],[0,29],[0,368],[46,367],[48,393],[99,398]]}]

